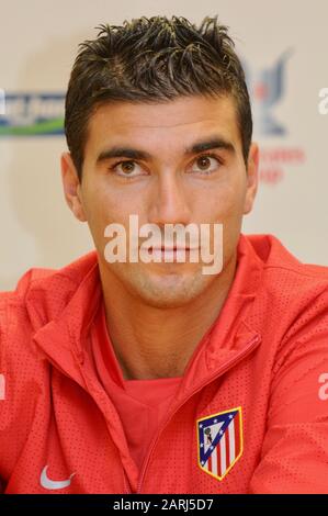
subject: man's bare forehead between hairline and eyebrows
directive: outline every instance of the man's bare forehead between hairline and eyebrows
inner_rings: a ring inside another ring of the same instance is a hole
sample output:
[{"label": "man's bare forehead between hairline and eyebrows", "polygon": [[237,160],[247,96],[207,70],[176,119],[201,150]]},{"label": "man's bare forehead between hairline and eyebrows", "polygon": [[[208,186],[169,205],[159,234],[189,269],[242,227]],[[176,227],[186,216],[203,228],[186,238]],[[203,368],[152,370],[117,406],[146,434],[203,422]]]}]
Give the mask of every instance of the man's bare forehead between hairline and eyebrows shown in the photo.
[{"label": "man's bare forehead between hairline and eyebrows", "polygon": [[[235,147],[239,128],[235,102],[230,97],[178,98],[159,103],[114,102],[99,106],[89,122],[87,147],[99,152],[104,143],[151,146],[158,137],[191,145],[202,136],[217,134]],[[146,141],[145,141],[146,138]],[[158,142],[157,142],[158,144]]]}]

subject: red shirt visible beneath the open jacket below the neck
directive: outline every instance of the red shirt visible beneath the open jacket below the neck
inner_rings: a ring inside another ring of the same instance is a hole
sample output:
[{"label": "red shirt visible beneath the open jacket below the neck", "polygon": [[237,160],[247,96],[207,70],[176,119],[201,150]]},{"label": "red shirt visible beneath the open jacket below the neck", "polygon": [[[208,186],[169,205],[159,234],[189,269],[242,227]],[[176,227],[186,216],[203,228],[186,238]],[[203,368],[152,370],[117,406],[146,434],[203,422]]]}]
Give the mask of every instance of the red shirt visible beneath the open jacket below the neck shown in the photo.
[{"label": "red shirt visible beneath the open jacket below the neck", "polygon": [[100,381],[118,412],[132,458],[140,470],[181,378],[124,380],[106,330],[103,303],[95,316],[91,341]]}]

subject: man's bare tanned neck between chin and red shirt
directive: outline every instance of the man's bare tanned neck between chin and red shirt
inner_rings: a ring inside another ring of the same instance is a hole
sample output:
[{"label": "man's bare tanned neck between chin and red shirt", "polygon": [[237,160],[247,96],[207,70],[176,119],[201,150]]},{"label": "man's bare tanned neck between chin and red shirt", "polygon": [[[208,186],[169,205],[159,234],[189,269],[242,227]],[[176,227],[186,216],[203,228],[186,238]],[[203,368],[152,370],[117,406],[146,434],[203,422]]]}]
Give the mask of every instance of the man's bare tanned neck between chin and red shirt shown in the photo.
[{"label": "man's bare tanned neck between chin and red shirt", "polygon": [[[236,272],[236,256],[192,303],[158,309],[136,301],[102,273],[106,326],[126,380],[182,377],[217,318]],[[115,288],[116,287],[116,288]]]}]

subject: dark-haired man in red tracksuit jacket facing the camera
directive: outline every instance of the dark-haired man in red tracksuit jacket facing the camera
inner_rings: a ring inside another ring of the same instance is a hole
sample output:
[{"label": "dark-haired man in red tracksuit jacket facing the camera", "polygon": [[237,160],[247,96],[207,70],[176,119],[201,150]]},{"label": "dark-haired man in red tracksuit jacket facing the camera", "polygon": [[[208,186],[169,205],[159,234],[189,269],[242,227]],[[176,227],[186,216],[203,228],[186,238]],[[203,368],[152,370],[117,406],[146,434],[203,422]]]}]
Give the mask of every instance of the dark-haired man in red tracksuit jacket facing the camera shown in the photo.
[{"label": "dark-haired man in red tracksuit jacket facing the camera", "polygon": [[[328,268],[240,233],[259,152],[226,27],[102,25],[65,128],[65,197],[97,251],[1,294],[3,492],[327,493]],[[132,215],[165,237],[156,259],[128,258]],[[168,225],[206,225],[216,255],[222,235],[219,270]]]}]

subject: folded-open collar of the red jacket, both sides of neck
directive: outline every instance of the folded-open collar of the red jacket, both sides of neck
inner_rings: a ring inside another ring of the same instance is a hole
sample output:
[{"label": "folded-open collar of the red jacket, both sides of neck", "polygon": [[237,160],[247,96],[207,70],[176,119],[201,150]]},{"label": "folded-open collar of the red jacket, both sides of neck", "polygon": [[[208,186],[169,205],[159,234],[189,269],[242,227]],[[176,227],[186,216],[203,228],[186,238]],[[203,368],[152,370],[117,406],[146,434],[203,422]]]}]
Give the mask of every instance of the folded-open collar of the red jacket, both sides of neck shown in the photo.
[{"label": "folded-open collar of the red jacket, both sides of neck", "polygon": [[[194,352],[185,373],[183,391],[215,373],[224,362],[242,356],[244,348],[260,336],[247,323],[261,283],[263,261],[245,235],[237,248],[234,282],[220,313]],[[26,295],[26,309],[34,326],[38,352],[84,386],[81,366],[86,339],[102,290],[97,253],[90,253],[55,274],[34,281]],[[56,300],[56,302],[54,302]]]}]

